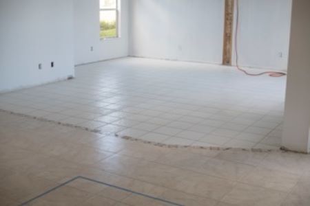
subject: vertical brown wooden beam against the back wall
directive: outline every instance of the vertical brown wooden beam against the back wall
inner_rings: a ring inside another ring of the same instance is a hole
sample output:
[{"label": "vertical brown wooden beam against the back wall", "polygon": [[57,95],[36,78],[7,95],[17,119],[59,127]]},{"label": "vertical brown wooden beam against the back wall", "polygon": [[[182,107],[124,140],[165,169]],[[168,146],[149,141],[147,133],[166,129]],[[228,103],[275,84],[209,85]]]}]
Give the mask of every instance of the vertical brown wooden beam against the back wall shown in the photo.
[{"label": "vertical brown wooden beam against the back wall", "polygon": [[234,0],[225,0],[223,65],[231,66],[234,33]]}]

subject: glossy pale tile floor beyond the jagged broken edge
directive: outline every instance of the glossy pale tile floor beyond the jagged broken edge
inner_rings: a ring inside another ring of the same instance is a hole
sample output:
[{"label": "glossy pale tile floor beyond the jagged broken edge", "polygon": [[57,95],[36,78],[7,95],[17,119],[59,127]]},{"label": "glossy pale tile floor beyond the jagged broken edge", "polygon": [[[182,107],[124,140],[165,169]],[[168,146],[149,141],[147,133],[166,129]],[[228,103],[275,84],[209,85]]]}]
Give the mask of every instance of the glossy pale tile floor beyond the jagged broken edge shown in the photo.
[{"label": "glossy pale tile floor beyond the jagged broken edge", "polygon": [[121,58],[2,94],[0,108],[163,144],[276,149],[285,84],[231,67]]}]

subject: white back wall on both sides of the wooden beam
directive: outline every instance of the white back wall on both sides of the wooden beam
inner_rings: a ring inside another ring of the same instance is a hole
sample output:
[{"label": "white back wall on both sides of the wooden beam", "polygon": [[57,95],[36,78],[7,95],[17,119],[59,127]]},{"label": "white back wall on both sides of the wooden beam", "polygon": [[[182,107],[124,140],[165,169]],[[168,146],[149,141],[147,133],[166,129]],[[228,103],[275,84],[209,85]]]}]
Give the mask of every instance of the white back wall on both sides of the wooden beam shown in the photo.
[{"label": "white back wall on both sides of the wooden beam", "polygon": [[[221,64],[224,5],[132,0],[130,55]],[[287,69],[290,12],[291,0],[240,0],[240,65]]]}]

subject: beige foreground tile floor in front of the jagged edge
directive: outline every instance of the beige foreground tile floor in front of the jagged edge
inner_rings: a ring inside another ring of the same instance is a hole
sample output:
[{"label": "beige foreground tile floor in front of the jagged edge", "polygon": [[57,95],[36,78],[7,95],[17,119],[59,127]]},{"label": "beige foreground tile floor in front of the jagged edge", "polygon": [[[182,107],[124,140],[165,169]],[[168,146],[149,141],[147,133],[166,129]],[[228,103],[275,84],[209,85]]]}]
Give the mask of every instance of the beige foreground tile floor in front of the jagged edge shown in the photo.
[{"label": "beige foreground tile floor in front of the jagged edge", "polygon": [[[310,205],[309,155],[158,147],[0,112],[0,205],[75,176],[180,205]],[[28,205],[167,204],[80,179]]]}]

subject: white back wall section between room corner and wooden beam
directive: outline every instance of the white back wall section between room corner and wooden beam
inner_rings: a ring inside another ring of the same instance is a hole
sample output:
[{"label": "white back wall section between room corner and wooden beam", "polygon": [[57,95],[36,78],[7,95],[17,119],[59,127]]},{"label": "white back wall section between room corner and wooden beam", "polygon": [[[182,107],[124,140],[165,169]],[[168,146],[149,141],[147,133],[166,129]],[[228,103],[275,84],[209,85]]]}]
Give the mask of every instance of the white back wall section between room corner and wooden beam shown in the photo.
[{"label": "white back wall section between room corner and wooden beam", "polygon": [[132,0],[130,55],[222,62],[223,0]]}]

